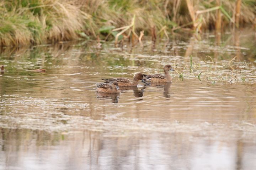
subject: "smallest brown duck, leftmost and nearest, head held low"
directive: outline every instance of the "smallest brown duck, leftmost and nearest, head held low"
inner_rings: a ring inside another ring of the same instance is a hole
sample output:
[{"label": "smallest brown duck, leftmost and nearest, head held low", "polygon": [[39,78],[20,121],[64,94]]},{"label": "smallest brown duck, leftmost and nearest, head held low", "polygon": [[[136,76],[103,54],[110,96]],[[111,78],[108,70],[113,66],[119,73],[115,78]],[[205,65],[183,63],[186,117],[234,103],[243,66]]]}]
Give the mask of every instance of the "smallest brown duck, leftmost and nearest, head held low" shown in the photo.
[{"label": "smallest brown duck, leftmost and nearest, head held low", "polygon": [[96,92],[99,93],[120,93],[118,83],[114,81],[113,83],[97,83]]}]

